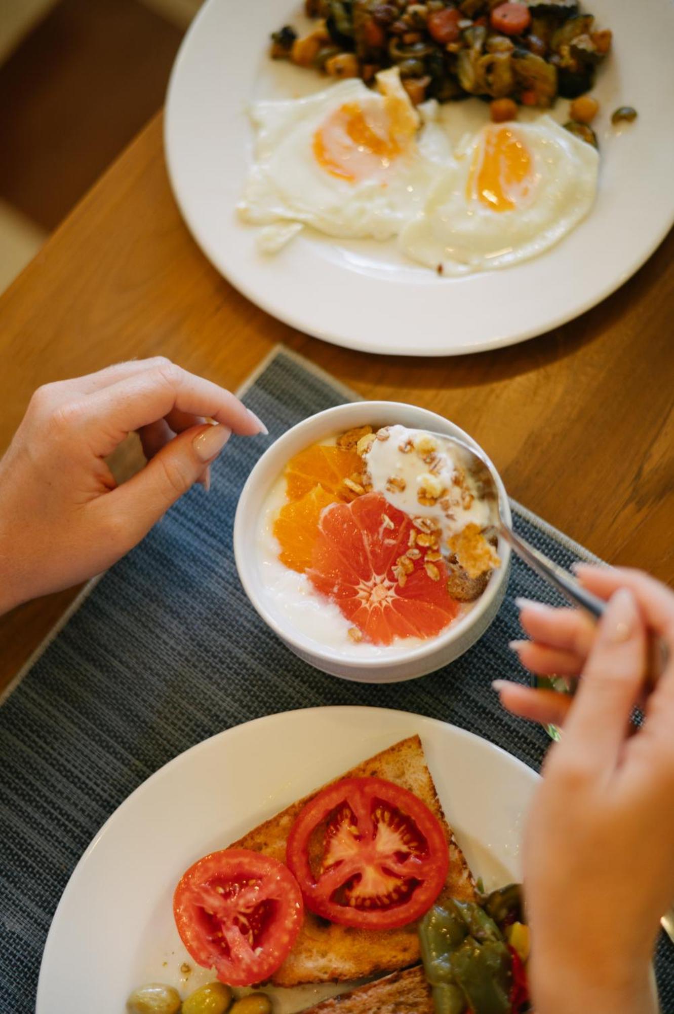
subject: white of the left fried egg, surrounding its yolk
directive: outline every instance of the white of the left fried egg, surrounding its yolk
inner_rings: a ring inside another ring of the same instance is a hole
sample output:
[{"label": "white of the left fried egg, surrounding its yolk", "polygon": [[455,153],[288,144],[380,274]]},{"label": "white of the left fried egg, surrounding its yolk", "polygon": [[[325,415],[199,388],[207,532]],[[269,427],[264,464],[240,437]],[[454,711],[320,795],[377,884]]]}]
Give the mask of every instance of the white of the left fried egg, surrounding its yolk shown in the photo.
[{"label": "white of the left fried egg, surrounding its yolk", "polygon": [[[384,72],[377,82],[378,92],[350,79],[305,98],[251,106],[255,162],[238,210],[244,221],[266,226],[259,235],[261,249],[275,252],[306,225],[341,238],[389,239],[424,206],[452,162],[449,141],[434,122],[436,103],[426,103],[420,116],[397,71]],[[372,178],[349,180],[327,171],[315,157],[316,132],[344,103],[383,108],[392,94],[409,106],[413,131],[419,128],[403,153]]]}]

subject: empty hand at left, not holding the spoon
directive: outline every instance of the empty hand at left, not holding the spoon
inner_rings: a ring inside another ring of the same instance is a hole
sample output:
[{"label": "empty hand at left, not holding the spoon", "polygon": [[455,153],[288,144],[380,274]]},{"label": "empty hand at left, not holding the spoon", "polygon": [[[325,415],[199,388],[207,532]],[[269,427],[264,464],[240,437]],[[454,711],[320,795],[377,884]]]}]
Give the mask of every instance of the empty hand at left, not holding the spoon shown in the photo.
[{"label": "empty hand at left, not holding the spoon", "polygon": [[[148,464],[117,487],[105,458],[135,430]],[[205,478],[233,432],[266,430],[234,394],[163,357],[39,387],[0,461],[0,613],[113,564]]]}]

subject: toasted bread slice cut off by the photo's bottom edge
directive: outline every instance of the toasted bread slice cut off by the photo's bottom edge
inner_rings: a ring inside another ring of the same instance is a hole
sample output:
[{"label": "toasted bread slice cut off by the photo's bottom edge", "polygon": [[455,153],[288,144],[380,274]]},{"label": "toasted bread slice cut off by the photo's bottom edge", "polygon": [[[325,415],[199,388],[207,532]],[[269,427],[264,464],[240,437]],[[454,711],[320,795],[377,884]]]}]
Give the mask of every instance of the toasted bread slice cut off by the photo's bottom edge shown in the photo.
[{"label": "toasted bread slice cut off by the photo's bottom edge", "polygon": [[435,1014],[435,1008],[424,969],[417,964],[324,1000],[302,1014]]}]

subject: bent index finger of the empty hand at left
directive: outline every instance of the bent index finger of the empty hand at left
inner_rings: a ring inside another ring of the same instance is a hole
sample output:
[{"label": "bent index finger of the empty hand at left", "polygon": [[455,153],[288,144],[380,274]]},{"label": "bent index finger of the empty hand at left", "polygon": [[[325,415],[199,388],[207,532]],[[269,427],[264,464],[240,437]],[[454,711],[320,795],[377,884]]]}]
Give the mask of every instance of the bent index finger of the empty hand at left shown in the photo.
[{"label": "bent index finger of the empty hand at left", "polygon": [[143,370],[89,394],[78,414],[106,455],[128,433],[178,411],[210,417],[234,433],[253,436],[266,427],[239,399],[212,380],[188,373],[174,363]]}]

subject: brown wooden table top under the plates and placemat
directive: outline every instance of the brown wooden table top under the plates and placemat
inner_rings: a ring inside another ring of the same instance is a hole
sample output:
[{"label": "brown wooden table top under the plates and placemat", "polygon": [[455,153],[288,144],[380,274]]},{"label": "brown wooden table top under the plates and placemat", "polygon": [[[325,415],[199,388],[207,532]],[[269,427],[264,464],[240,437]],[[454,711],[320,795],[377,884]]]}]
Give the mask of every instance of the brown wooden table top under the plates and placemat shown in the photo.
[{"label": "brown wooden table top under the plates and placemat", "polygon": [[[283,342],[367,397],[446,415],[521,503],[611,563],[674,581],[673,319],[674,232],[595,309],[509,349],[414,359],[308,338],[239,295],[192,241],[159,116],[0,300],[0,449],[46,381],[161,353],[235,388]],[[0,687],[72,594],[0,621]]]}]

